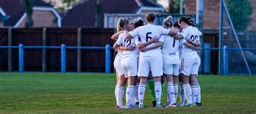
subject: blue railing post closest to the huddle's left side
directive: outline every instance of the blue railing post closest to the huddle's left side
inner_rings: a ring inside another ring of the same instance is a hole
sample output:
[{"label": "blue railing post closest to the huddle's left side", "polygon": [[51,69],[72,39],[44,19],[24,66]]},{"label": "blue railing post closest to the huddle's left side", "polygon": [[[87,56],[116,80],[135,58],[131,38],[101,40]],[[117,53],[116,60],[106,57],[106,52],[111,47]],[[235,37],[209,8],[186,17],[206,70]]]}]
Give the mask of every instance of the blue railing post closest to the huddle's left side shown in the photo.
[{"label": "blue railing post closest to the huddle's left side", "polygon": [[111,52],[110,52],[110,45],[107,44],[105,47],[105,72],[110,73],[110,58],[111,58]]}]

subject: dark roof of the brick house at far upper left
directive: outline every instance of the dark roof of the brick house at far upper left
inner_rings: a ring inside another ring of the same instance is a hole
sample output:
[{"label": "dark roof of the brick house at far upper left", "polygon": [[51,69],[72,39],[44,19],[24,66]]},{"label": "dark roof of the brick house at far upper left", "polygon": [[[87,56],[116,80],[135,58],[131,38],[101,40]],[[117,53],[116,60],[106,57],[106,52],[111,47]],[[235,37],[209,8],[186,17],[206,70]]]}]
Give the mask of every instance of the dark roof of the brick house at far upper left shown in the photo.
[{"label": "dark roof of the brick house at far upper left", "polygon": [[[4,26],[15,26],[18,20],[24,15],[25,9],[21,2],[17,0],[1,0],[1,8],[5,11],[6,15],[9,17]],[[33,0],[33,6],[43,6],[52,7],[52,5],[43,2],[42,0]]]}]

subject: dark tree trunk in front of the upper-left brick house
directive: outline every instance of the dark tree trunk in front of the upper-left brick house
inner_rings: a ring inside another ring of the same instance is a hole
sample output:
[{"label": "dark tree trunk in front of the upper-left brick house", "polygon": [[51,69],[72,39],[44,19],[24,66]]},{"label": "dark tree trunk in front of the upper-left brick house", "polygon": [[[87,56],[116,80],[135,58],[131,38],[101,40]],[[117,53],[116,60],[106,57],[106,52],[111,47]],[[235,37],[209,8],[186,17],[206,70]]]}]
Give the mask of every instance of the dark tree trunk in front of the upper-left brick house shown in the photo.
[{"label": "dark tree trunk in front of the upper-left brick house", "polygon": [[32,20],[32,13],[33,13],[33,4],[32,0],[20,0],[21,4],[26,9],[26,18],[27,22],[25,23],[26,27],[32,27],[33,26],[33,20]]}]

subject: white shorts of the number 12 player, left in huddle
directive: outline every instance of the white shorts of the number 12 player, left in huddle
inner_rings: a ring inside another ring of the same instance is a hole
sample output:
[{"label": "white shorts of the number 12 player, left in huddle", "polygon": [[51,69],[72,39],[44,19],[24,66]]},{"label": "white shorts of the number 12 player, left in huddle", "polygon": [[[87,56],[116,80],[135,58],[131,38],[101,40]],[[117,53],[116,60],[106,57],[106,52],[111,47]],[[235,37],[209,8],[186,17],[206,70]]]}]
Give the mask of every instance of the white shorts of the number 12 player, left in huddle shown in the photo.
[{"label": "white shorts of the number 12 player, left in huddle", "polygon": [[121,66],[124,70],[124,76],[137,76],[138,58],[137,56],[128,56],[121,59]]}]

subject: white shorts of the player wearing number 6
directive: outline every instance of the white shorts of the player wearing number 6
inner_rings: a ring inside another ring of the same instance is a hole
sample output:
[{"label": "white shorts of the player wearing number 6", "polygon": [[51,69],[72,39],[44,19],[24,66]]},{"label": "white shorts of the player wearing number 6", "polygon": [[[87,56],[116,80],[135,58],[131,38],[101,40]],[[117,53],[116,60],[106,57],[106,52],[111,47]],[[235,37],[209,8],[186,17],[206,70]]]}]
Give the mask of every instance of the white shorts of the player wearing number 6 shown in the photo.
[{"label": "white shorts of the player wearing number 6", "polygon": [[163,75],[163,59],[161,57],[143,56],[139,58],[138,76],[147,77],[151,70],[153,77]]}]

